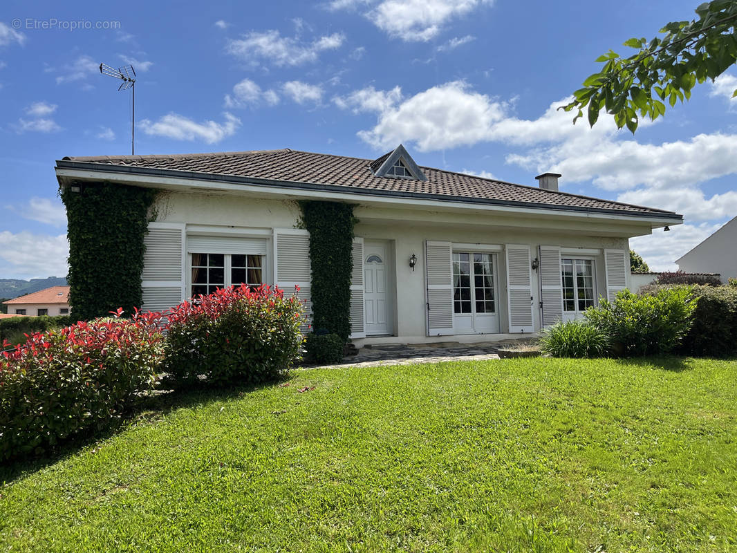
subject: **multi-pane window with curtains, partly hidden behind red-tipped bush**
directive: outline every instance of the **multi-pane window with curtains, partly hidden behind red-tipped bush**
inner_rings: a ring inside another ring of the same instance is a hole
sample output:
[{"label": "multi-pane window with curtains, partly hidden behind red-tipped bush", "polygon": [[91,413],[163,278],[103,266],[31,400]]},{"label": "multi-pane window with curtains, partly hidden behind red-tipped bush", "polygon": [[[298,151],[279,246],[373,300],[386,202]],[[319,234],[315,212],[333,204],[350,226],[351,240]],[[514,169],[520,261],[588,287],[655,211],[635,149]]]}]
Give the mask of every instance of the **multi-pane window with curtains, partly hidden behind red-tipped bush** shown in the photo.
[{"label": "multi-pane window with curtains, partly hidden behind red-tipped bush", "polygon": [[261,255],[192,254],[192,296],[226,286],[258,286],[263,274]]}]

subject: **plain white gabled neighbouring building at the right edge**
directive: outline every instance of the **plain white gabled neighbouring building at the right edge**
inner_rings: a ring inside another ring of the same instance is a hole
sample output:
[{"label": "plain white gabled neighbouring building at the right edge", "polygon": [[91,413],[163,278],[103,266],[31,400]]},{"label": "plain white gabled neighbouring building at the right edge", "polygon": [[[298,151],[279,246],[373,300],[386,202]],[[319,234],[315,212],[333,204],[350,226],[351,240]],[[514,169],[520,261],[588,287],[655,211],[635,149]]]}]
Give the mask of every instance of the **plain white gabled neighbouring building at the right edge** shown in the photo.
[{"label": "plain white gabled neighbouring building at the right edge", "polygon": [[688,273],[719,273],[722,282],[737,278],[737,217],[676,262]]}]

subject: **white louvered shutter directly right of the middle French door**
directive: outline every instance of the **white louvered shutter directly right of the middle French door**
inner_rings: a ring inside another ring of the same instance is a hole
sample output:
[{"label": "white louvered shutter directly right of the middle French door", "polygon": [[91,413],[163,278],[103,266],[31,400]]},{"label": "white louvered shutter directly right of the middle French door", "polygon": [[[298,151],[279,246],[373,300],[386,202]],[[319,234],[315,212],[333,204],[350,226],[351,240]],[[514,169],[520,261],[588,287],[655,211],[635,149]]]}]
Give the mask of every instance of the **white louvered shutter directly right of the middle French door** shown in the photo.
[{"label": "white louvered shutter directly right of the middle French door", "polygon": [[507,244],[505,249],[509,332],[531,333],[534,326],[530,246]]}]

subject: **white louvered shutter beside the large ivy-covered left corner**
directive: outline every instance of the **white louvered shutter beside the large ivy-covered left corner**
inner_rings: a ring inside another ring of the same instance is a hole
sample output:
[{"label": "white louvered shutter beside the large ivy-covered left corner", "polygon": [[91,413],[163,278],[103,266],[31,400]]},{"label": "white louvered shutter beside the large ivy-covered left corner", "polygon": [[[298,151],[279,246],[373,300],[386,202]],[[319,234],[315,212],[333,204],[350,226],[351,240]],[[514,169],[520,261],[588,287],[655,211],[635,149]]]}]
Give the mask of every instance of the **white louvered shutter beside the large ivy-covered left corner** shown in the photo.
[{"label": "white louvered shutter beside the large ivy-covered left corner", "polygon": [[149,223],[144,237],[142,310],[163,311],[184,301],[184,224]]}]

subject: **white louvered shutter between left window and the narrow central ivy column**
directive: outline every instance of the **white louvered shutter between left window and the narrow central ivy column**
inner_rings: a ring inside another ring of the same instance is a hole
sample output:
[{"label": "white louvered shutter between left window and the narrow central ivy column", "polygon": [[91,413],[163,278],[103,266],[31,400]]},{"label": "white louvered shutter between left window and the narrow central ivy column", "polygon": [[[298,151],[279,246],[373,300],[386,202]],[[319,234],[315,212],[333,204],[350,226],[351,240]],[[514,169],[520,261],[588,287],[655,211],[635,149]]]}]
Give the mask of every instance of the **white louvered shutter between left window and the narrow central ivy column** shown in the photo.
[{"label": "white louvered shutter between left window and the narrow central ivy column", "polygon": [[304,305],[307,321],[302,332],[312,321],[312,302],[310,301],[310,233],[301,229],[274,229],[274,282],[285,294],[294,293],[299,287],[297,297]]}]

